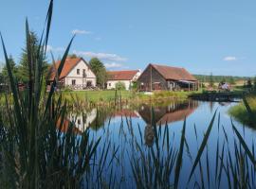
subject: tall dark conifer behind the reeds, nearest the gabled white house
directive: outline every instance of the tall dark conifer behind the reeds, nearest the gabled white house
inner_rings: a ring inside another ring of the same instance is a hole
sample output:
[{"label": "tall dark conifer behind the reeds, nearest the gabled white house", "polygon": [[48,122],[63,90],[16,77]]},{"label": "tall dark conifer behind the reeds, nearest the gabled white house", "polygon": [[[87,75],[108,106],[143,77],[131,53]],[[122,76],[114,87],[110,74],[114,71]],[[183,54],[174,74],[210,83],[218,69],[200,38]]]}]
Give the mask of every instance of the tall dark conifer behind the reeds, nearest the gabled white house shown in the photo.
[{"label": "tall dark conifer behind the reeds, nearest the gabled white house", "polygon": [[[38,50],[38,46],[39,46],[39,41],[38,41],[38,37],[36,35],[35,32],[30,32],[29,33],[29,46],[30,46],[30,50],[31,50],[31,59],[35,60],[35,56],[37,54],[37,50]],[[32,65],[31,65],[31,70],[35,70],[35,62],[32,61]],[[28,66],[28,60],[27,60],[27,45],[26,47],[23,49],[22,55],[21,55],[21,60],[20,60],[20,64],[18,66],[18,77],[20,78],[20,80],[24,83],[27,83],[29,81],[29,66]],[[42,71],[44,73],[44,76],[46,77],[48,74],[48,68],[49,65],[46,62],[46,58],[44,58],[43,60],[43,65],[42,65]],[[35,73],[32,72],[32,80],[35,77]]]}]

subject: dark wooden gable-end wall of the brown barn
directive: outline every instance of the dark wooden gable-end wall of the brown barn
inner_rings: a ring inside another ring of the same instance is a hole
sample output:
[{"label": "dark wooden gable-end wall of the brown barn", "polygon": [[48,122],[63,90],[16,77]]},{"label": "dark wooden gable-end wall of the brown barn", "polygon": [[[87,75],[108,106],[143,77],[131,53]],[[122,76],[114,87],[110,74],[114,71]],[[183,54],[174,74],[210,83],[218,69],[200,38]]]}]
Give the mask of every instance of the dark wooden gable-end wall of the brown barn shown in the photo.
[{"label": "dark wooden gable-end wall of the brown barn", "polygon": [[[151,89],[152,81],[152,89]],[[144,91],[155,90],[154,83],[159,83],[161,90],[168,90],[168,83],[164,77],[162,77],[154,67],[148,66],[146,70],[137,79],[138,87]]]}]

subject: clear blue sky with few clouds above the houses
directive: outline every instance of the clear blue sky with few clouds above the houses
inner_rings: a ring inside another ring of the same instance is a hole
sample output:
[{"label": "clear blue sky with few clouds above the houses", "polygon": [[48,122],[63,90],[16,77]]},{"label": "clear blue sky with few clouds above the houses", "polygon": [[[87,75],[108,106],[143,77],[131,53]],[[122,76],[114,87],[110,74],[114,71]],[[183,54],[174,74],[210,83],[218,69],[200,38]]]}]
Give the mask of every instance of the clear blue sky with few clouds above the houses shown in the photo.
[{"label": "clear blue sky with few clouds above the houses", "polygon": [[[15,60],[26,17],[40,33],[47,4],[1,1],[0,31]],[[255,0],[55,0],[48,49],[58,58],[77,33],[71,52],[99,57],[110,70],[143,70],[154,62],[193,74],[255,76],[255,9]]]}]

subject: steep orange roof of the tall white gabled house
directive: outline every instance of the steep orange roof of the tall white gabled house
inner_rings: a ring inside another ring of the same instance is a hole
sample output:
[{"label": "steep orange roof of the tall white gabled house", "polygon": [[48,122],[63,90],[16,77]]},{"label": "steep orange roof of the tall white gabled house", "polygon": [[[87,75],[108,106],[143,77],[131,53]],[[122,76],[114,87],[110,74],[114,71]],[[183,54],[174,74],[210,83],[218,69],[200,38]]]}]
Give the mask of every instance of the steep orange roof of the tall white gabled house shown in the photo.
[{"label": "steep orange roof of the tall white gabled house", "polygon": [[[64,67],[59,79],[66,77],[68,73],[80,62],[80,60],[83,60],[83,59],[82,58],[66,58],[66,60],[64,61]],[[85,60],[83,61],[86,62]],[[55,73],[57,72],[57,69],[59,68],[60,63],[61,63],[61,60],[58,60],[57,62],[55,62],[55,68],[53,65],[51,66],[50,80],[54,80]]]}]

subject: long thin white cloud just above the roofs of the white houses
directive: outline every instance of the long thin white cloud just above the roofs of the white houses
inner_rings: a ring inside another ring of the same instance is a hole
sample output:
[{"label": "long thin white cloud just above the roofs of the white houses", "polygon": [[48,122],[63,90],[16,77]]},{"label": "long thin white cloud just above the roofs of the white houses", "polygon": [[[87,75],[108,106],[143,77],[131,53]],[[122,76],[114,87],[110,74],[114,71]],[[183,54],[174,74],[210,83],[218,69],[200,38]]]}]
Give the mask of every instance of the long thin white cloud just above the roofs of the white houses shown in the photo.
[{"label": "long thin white cloud just above the roofs of the white houses", "polygon": [[74,54],[84,56],[87,58],[96,57],[100,60],[109,60],[109,61],[126,61],[126,58],[120,57],[117,54],[110,54],[110,53],[95,53],[91,51],[73,51]]}]

